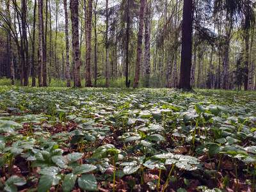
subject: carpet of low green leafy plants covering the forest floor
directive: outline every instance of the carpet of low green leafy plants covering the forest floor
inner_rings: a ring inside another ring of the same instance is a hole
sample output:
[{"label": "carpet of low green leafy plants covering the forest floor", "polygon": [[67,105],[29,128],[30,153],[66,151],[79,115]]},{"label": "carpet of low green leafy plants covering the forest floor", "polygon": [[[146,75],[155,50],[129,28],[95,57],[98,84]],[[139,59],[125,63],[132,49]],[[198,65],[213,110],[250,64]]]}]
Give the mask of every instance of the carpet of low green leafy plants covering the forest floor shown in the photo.
[{"label": "carpet of low green leafy plants covering the forest floor", "polygon": [[0,191],[254,191],[255,99],[0,86]]}]

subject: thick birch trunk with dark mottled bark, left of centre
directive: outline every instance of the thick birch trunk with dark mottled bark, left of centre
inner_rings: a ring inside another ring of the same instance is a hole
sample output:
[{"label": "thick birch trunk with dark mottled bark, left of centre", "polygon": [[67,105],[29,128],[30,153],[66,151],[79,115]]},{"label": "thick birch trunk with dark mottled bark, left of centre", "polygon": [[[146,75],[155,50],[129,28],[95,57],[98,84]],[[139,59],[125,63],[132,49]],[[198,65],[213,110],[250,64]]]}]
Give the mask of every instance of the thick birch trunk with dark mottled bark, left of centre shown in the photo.
[{"label": "thick birch trunk with dark mottled bark, left of centre", "polygon": [[70,1],[70,12],[72,22],[73,65],[75,71],[74,87],[81,88],[78,6],[78,0]]}]

